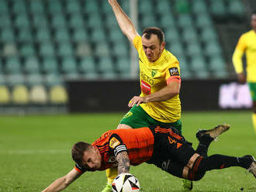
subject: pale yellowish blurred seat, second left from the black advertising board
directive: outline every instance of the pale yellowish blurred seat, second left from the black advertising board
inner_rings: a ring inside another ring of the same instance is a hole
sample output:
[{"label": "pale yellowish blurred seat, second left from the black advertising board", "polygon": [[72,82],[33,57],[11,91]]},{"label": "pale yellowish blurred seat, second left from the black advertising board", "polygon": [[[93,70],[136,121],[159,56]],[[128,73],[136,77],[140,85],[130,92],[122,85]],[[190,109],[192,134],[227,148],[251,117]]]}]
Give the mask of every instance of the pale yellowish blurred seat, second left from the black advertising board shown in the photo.
[{"label": "pale yellowish blurred seat, second left from the black advertising board", "polygon": [[47,104],[47,90],[43,85],[34,85],[29,91],[29,98],[34,105]]}]

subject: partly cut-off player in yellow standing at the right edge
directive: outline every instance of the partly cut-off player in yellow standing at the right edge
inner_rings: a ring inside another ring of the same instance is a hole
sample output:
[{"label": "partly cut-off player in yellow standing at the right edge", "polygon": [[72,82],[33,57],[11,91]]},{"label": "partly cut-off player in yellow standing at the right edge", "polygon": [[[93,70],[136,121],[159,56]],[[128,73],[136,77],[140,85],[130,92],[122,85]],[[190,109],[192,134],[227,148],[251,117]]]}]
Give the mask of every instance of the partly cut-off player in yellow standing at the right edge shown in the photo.
[{"label": "partly cut-off player in yellow standing at the right edge", "polygon": [[[256,12],[251,15],[251,31],[240,36],[236,50],[233,55],[234,68],[237,73],[238,81],[249,84],[251,98],[253,100],[252,122],[256,134]],[[247,74],[244,74],[242,57],[246,53]]]}]

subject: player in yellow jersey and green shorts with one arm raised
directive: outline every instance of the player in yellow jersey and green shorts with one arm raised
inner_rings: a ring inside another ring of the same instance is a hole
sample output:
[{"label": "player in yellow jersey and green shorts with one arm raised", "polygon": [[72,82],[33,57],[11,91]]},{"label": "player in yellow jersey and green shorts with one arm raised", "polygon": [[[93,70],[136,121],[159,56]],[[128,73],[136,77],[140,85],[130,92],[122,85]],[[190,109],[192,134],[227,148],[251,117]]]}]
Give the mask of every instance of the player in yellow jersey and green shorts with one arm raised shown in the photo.
[{"label": "player in yellow jersey and green shorts with one arm raised", "polygon": [[[156,27],[146,28],[140,36],[130,18],[116,0],[109,0],[120,29],[137,49],[140,64],[140,96],[131,99],[130,111],[119,122],[118,129],[136,129],[150,125],[172,125],[182,132],[180,67],[177,58],[164,49],[164,33]],[[106,170],[110,192],[116,169]],[[182,180],[183,187],[192,189],[192,182]]]}]

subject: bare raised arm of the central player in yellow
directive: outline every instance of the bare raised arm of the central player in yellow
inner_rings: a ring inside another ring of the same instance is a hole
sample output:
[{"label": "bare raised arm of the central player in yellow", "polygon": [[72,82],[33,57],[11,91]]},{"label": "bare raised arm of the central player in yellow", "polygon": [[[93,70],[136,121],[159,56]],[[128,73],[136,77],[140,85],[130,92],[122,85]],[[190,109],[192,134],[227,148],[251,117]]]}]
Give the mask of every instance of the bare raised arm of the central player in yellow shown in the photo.
[{"label": "bare raised arm of the central player in yellow", "polygon": [[116,16],[116,21],[118,22],[123,34],[125,34],[130,42],[133,43],[133,39],[136,36],[139,36],[135,27],[133,26],[133,22],[126,15],[126,13],[123,12],[123,9],[116,0],[109,0],[109,4],[112,6],[112,10]]}]

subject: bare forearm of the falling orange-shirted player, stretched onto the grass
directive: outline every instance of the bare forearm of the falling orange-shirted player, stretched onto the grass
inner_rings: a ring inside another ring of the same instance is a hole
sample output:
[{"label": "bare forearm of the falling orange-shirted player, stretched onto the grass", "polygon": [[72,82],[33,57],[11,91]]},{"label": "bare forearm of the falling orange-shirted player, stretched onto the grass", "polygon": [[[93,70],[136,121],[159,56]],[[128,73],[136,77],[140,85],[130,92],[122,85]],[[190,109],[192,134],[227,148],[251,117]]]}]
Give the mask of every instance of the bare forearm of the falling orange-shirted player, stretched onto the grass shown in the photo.
[{"label": "bare forearm of the falling orange-shirted player, stretched onto the grass", "polygon": [[51,183],[49,187],[47,187],[42,192],[57,192],[64,190],[69,184],[71,184],[74,180],[81,176],[82,173],[79,173],[77,170],[71,170],[67,175],[61,177]]}]

